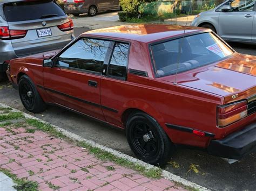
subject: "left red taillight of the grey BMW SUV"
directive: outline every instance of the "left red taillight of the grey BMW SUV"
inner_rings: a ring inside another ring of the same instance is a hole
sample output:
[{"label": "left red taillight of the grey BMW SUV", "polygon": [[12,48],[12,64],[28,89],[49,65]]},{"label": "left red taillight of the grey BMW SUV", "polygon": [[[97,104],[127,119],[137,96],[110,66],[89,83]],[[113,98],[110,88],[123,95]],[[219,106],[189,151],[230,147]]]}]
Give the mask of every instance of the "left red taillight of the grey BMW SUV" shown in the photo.
[{"label": "left red taillight of the grey BMW SUV", "polygon": [[28,31],[26,30],[9,30],[8,26],[0,26],[0,39],[9,40],[24,38],[27,32]]}]

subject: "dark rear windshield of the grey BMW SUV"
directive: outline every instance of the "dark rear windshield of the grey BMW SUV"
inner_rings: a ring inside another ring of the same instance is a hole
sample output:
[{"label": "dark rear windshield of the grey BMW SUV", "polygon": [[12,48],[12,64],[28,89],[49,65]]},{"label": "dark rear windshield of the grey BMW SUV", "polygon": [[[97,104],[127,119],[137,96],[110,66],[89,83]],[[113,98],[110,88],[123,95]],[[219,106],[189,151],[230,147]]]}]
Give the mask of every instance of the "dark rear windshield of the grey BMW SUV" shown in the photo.
[{"label": "dark rear windshield of the grey BMW SUV", "polygon": [[65,12],[53,1],[6,3],[3,9],[8,22],[45,19],[65,15]]}]

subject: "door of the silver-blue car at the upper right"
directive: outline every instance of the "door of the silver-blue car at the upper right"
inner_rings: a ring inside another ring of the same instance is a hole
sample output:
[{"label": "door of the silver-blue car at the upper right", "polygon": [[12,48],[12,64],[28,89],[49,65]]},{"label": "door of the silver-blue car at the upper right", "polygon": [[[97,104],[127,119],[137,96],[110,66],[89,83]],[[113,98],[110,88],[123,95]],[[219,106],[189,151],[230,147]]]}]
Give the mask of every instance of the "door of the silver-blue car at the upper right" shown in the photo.
[{"label": "door of the silver-blue car at the upper right", "polygon": [[251,41],[254,1],[228,2],[231,10],[220,12],[218,34],[225,40]]}]

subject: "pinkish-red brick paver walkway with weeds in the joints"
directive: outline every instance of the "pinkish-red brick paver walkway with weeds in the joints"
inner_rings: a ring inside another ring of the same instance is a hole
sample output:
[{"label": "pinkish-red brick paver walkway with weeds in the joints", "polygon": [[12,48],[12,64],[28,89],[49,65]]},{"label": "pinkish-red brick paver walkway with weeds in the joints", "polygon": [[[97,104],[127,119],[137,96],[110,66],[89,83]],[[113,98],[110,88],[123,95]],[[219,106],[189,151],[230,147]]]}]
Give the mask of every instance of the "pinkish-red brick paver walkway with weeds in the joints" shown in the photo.
[{"label": "pinkish-red brick paver walkway with weeds in the joints", "polygon": [[97,159],[83,148],[24,128],[0,128],[0,167],[37,181],[40,190],[184,190],[165,179]]}]

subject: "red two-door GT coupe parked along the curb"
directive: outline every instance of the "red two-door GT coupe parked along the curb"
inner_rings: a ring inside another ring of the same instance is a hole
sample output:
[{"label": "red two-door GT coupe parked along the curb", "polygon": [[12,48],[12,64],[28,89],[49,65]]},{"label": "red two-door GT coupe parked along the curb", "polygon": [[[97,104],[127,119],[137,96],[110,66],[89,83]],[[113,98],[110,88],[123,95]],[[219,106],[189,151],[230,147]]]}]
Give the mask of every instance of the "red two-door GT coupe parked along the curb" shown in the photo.
[{"label": "red two-door GT coupe parked along the curb", "polygon": [[140,24],[11,60],[7,74],[28,111],[57,105],[125,129],[139,159],[163,165],[176,144],[230,159],[251,152],[255,61],[208,29]]}]

